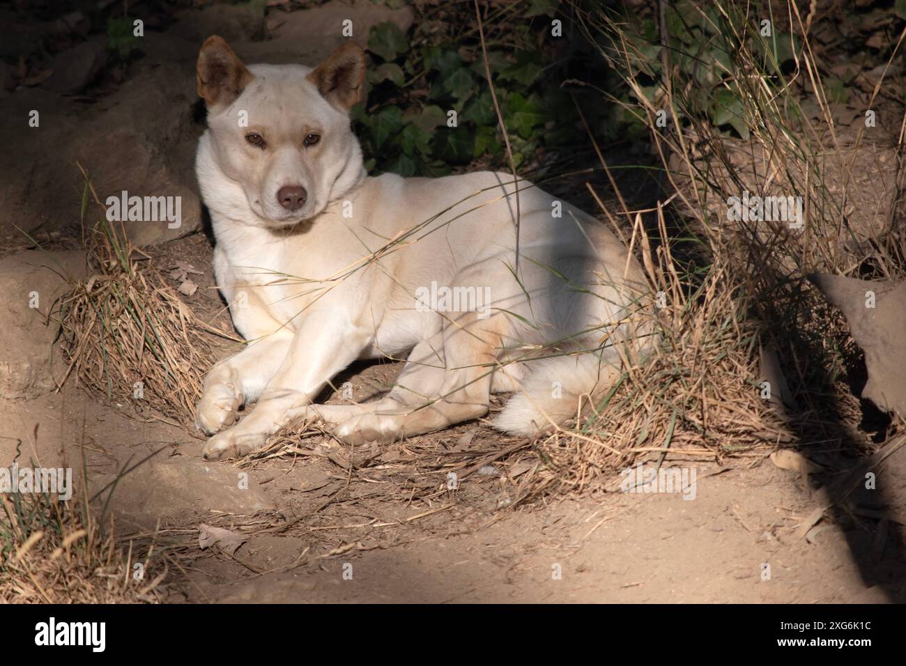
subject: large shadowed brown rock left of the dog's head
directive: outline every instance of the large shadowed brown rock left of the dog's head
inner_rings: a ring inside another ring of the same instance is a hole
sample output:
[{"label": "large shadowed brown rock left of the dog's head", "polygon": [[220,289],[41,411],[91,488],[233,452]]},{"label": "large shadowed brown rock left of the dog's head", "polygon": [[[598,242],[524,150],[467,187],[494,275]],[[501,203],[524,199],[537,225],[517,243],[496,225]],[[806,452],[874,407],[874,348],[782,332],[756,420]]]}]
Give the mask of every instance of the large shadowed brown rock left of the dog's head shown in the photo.
[{"label": "large shadowed brown rock left of the dog's head", "polygon": [[[178,227],[166,221],[126,223],[136,245],[198,229],[193,163],[202,127],[193,123],[195,101],[190,63],[138,64],[119,90],[88,108],[39,88],[15,92],[5,101],[9,111],[0,115],[0,132],[7,138],[0,170],[8,174],[0,180],[0,235],[14,233],[13,222],[26,231],[45,222],[77,224],[83,188],[77,161],[102,201],[123,190],[130,196],[179,197]],[[37,128],[28,125],[33,110],[40,113]],[[86,224],[92,221],[89,217]]]}]

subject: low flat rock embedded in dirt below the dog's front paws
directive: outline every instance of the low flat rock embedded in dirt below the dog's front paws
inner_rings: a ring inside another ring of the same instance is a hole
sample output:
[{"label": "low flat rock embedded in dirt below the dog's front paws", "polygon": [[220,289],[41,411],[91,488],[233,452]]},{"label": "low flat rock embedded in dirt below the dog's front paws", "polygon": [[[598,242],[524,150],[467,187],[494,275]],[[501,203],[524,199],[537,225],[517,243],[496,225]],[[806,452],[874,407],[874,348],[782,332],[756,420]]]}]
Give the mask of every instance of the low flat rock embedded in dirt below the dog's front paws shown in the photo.
[{"label": "low flat rock embedded in dirt below the dog's front paws", "polygon": [[[240,473],[238,468],[201,458],[151,458],[120,478],[113,488],[111,508],[143,528],[153,528],[158,520],[161,525],[210,520],[212,511],[252,516],[273,510],[274,504],[254,478],[248,478],[246,489],[240,487]],[[115,478],[112,474],[92,478],[92,494]],[[101,502],[108,494],[102,493]]]}]

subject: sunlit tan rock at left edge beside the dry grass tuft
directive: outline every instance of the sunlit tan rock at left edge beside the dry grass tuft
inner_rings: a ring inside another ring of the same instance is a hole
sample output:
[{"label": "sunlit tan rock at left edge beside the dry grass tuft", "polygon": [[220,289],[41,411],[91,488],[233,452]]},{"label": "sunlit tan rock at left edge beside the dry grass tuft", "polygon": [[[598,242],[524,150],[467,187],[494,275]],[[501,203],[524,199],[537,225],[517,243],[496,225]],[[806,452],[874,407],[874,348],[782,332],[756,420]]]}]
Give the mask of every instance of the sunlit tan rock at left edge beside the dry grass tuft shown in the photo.
[{"label": "sunlit tan rock at left edge beside the dry grass tuft", "polygon": [[63,275],[85,275],[84,253],[30,250],[0,259],[0,398],[34,398],[62,379],[57,326],[47,314],[65,292]]}]

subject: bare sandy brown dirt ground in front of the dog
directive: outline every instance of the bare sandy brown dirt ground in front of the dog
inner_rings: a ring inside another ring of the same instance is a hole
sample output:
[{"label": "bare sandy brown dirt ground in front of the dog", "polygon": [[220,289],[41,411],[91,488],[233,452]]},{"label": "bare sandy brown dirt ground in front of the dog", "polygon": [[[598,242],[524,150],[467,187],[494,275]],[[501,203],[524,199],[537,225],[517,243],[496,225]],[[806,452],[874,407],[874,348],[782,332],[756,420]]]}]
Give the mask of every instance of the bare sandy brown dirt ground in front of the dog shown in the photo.
[{"label": "bare sandy brown dirt ground in front of the dog", "polygon": [[[200,271],[187,301],[225,324],[207,238],[165,247],[158,265]],[[397,370],[359,366],[343,381],[363,398]],[[0,401],[0,420],[8,433],[0,464],[12,463],[16,439],[20,461],[65,458],[81,468],[83,455],[92,493],[140,463],[110,507],[120,536],[138,530],[139,553],[153,541],[167,554],[159,596],[169,603],[875,603],[904,594],[904,455],[881,474],[897,489],[889,519],[838,521],[806,540],[797,530],[818,506],[816,484],[778,468],[767,448],[719,463],[677,451],[665,465],[695,469],[691,499],[613,492],[613,473],[579,499],[513,507],[525,469],[484,457],[508,442],[482,422],[364,452],[313,432],[264,457],[206,463],[194,433],[142,421],[130,405],[105,405],[72,382],[35,400]],[[413,467],[425,446],[474,456],[475,473],[447,489],[436,468]],[[202,524],[240,545],[202,550]],[[156,575],[164,564],[157,556],[148,566]]]}]

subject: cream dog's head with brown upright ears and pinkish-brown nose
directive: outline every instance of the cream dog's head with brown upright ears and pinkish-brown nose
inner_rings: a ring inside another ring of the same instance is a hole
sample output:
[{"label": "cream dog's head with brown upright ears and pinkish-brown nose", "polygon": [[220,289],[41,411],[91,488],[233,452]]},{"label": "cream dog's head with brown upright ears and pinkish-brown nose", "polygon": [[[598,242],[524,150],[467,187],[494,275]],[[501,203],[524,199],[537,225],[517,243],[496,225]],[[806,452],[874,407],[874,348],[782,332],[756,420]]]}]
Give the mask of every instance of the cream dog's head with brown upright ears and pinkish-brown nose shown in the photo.
[{"label": "cream dog's head with brown upright ears and pinkish-brown nose", "polygon": [[357,44],[343,44],[314,69],[246,67],[214,36],[202,45],[196,72],[217,167],[242,186],[255,224],[314,217],[361,178],[349,121],[365,76]]}]

